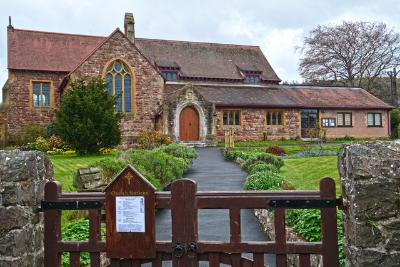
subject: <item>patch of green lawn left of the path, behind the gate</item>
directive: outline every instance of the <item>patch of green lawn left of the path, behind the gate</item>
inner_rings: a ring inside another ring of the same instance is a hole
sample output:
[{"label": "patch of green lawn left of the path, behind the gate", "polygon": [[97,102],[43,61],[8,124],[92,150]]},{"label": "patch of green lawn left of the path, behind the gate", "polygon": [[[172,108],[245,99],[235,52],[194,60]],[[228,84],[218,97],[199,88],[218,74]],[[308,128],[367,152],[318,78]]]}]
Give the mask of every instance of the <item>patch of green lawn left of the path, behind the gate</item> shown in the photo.
[{"label": "patch of green lawn left of the path, behind the gate", "polygon": [[75,192],[73,186],[74,175],[77,169],[90,166],[92,163],[115,157],[114,154],[107,155],[51,155],[48,156],[53,163],[55,180],[62,185],[63,192]]}]

